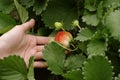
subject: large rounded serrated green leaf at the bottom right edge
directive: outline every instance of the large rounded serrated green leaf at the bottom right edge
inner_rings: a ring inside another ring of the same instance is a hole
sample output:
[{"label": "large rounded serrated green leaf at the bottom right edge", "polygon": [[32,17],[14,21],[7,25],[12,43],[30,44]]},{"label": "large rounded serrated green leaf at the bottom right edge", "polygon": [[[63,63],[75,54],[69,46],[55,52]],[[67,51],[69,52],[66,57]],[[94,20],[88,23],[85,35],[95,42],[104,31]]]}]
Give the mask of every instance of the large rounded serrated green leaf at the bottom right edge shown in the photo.
[{"label": "large rounded serrated green leaf at the bottom right edge", "polygon": [[93,56],[84,63],[85,80],[112,80],[112,66],[104,56]]}]

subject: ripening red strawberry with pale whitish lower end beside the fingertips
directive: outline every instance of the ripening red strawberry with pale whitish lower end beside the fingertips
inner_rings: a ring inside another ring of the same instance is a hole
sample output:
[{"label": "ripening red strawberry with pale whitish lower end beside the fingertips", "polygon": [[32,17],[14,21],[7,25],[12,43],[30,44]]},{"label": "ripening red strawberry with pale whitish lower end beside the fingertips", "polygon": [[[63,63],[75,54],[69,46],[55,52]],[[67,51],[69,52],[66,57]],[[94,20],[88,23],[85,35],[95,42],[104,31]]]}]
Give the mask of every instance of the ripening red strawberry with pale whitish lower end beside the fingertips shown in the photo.
[{"label": "ripening red strawberry with pale whitish lower end beside the fingertips", "polygon": [[55,41],[61,43],[65,47],[69,47],[72,39],[71,33],[67,31],[59,31],[55,36]]}]

